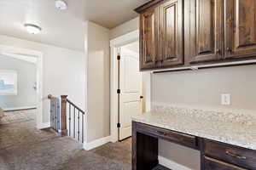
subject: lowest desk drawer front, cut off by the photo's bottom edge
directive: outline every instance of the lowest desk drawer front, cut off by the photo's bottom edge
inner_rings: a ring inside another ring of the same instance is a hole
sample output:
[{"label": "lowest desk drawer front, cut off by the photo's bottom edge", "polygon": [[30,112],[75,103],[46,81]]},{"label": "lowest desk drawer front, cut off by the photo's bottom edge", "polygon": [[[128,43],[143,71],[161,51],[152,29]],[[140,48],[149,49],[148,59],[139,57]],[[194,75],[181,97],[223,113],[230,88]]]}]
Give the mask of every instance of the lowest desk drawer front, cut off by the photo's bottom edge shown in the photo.
[{"label": "lowest desk drawer front, cut off by the photo's bottom edge", "polygon": [[209,157],[205,157],[204,159],[205,170],[247,170]]}]

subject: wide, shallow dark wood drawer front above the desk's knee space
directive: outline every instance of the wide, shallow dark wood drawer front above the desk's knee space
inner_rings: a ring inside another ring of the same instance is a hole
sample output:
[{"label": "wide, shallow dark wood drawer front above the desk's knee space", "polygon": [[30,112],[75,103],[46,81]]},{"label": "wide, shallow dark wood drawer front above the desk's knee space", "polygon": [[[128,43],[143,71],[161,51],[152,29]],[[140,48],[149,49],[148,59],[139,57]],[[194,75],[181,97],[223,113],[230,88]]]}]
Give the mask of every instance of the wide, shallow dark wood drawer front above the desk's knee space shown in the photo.
[{"label": "wide, shallow dark wood drawer front above the desk's knee space", "polygon": [[195,136],[177,133],[168,129],[137,123],[137,132],[145,133],[155,138],[166,139],[170,142],[198,149]]}]

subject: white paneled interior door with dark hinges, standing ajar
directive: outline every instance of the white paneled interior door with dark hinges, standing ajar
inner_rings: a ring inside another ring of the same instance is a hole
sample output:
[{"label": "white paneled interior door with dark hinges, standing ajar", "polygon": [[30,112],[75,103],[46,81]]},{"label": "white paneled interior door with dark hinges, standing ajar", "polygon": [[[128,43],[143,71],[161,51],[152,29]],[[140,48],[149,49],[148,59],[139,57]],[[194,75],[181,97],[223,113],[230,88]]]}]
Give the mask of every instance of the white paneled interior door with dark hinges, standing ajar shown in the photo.
[{"label": "white paneled interior door with dark hinges, standing ajar", "polygon": [[119,68],[119,140],[131,137],[131,117],[143,112],[143,77],[139,71],[139,54],[120,48]]}]

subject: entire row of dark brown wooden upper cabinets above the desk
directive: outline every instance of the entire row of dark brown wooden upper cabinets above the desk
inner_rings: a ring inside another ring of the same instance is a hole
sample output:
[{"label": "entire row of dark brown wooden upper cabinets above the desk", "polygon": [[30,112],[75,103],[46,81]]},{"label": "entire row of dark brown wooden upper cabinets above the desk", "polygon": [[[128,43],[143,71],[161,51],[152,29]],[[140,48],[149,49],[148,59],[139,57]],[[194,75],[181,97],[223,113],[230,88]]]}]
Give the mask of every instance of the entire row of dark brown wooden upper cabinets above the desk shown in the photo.
[{"label": "entire row of dark brown wooden upper cabinets above the desk", "polygon": [[135,10],[141,71],[256,59],[255,0],[152,0]]}]

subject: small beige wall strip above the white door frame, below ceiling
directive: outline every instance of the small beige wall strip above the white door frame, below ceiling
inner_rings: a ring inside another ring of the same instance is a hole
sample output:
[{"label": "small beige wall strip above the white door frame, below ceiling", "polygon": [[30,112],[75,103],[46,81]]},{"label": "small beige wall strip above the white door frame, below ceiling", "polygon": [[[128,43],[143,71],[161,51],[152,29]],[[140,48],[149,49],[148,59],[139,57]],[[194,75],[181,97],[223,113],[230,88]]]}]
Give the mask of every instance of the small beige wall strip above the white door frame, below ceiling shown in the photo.
[{"label": "small beige wall strip above the white door frame, below ceiling", "polygon": [[129,20],[124,24],[110,30],[110,39],[114,39],[116,37],[122,36],[131,31],[136,31],[138,28],[139,28],[139,18],[137,17],[133,20]]}]

